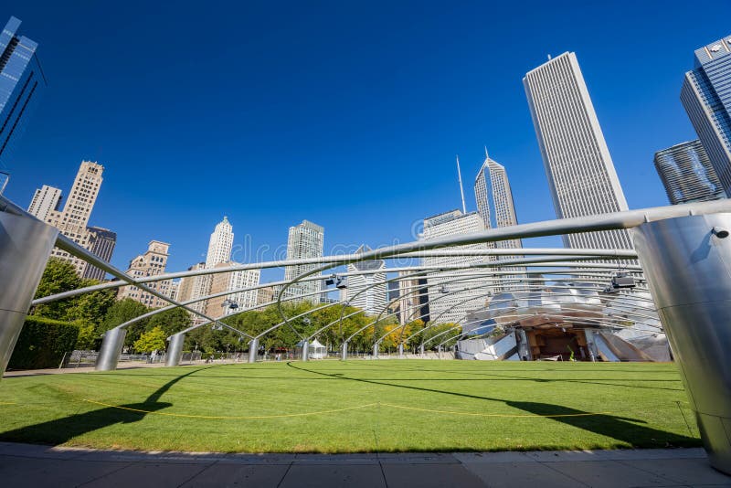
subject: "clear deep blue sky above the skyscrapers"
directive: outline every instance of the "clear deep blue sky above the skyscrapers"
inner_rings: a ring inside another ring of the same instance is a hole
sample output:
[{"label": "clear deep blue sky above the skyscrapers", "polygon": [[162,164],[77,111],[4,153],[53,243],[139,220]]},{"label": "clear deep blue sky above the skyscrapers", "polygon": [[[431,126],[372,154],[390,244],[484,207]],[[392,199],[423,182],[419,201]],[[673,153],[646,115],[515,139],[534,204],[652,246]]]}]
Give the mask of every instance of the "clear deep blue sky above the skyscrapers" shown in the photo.
[{"label": "clear deep blue sky above the skyscrapers", "polygon": [[49,80],[7,196],[66,194],[98,161],[90,224],[117,232],[112,262],[159,239],[179,271],[224,215],[254,249],[286,245],[303,218],[326,250],[411,240],[460,206],[455,154],[474,209],[487,145],[519,220],[554,218],[522,78],[573,50],[630,207],[665,205],[652,155],[696,137],[683,72],[731,31],[727,2],[242,4],[5,3],[0,22],[23,21]]}]

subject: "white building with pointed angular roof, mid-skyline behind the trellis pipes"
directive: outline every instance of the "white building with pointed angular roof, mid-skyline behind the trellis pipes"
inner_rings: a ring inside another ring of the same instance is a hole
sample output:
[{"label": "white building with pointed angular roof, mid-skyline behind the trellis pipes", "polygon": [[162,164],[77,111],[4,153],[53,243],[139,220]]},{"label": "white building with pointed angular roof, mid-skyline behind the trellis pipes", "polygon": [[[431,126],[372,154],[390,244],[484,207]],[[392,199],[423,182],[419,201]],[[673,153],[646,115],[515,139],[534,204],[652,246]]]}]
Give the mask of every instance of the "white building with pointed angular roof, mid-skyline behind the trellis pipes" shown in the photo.
[{"label": "white building with pointed angular roof, mid-skyline behind the trellis pipes", "polygon": [[[361,254],[371,250],[365,244],[355,251]],[[384,271],[379,271],[384,270]],[[367,260],[347,265],[348,273],[367,271],[367,274],[348,276],[348,303],[364,310],[369,315],[381,313],[387,303],[386,262],[384,260]]]}]

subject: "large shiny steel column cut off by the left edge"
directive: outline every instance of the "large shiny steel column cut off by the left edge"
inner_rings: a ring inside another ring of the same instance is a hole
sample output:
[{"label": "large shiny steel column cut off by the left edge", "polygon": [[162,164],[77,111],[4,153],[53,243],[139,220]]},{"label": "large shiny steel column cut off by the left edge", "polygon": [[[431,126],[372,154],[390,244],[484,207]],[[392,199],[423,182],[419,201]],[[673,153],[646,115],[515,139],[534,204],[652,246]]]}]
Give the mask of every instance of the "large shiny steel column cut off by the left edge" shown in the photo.
[{"label": "large shiny steel column cut off by the left edge", "polygon": [[13,355],[58,230],[0,212],[0,377]]}]

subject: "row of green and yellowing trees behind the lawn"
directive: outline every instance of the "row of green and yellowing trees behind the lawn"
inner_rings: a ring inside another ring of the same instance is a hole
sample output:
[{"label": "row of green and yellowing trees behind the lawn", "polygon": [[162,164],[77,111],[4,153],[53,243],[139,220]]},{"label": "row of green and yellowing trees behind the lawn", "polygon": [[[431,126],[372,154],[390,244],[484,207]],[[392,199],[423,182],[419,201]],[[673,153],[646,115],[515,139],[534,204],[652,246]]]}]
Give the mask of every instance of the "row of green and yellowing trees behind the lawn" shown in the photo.
[{"label": "row of green and yellowing trees behind the lawn", "polygon": [[[95,281],[80,279],[69,262],[52,258],[48,261],[38,286],[37,297],[67,292],[91,284],[95,284]],[[85,293],[67,300],[37,305],[31,313],[39,317],[78,324],[77,348],[94,349],[98,348],[101,336],[106,331],[152,310],[132,299],[117,301],[116,295],[116,289]],[[268,350],[277,347],[291,348],[301,340],[300,336],[307,337],[323,329],[317,334],[317,338],[331,348],[339,348],[345,338],[355,334],[350,342],[353,351],[369,351],[375,339],[383,335],[386,337],[381,342],[382,350],[396,349],[399,344],[404,344],[407,349],[413,350],[422,341],[429,342],[431,337],[450,329],[454,330],[440,335],[433,344],[429,343],[429,346],[435,347],[460,333],[460,329],[454,328],[454,324],[440,324],[430,327],[424,333],[418,333],[426,327],[422,321],[416,320],[401,327],[393,315],[382,317],[375,326],[371,326],[376,322],[376,317],[359,313],[354,307],[348,306],[344,310],[340,305],[321,307],[323,305],[310,302],[284,303],[283,312],[288,317],[313,311],[314,308],[319,310],[293,319],[290,324],[264,335],[260,345]],[[342,321],[341,316],[344,317]],[[282,319],[280,311],[275,306],[270,306],[261,311],[237,313],[226,317],[222,322],[247,334],[257,335],[281,324]],[[183,309],[176,308],[157,313],[130,325],[125,345],[139,352],[164,349],[165,337],[184,330],[190,324],[190,315]],[[210,326],[204,326],[186,334],[185,349],[197,349],[207,353],[245,351],[249,347],[248,342],[239,334],[226,329],[215,330]]]}]

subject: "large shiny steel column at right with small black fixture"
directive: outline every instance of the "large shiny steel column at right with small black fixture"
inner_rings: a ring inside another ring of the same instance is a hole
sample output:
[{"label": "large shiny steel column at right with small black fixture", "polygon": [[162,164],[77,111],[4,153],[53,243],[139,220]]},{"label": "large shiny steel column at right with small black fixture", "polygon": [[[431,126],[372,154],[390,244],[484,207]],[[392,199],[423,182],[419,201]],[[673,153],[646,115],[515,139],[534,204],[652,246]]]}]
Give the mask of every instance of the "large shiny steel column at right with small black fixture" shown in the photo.
[{"label": "large shiny steel column at right with small black fixture", "polygon": [[731,214],[641,224],[635,248],[711,464],[731,474]]}]

